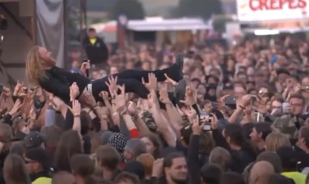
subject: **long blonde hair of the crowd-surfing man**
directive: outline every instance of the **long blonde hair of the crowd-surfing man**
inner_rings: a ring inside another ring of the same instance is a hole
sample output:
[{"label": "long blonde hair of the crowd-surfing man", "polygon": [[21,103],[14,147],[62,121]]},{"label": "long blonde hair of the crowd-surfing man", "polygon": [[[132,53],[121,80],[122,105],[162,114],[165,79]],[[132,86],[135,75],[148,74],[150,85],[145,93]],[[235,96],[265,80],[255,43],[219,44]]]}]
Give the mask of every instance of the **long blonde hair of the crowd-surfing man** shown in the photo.
[{"label": "long blonde hair of the crowd-surfing man", "polygon": [[45,76],[42,66],[42,59],[39,53],[40,46],[34,46],[26,57],[26,76],[30,83],[38,83],[38,80]]}]

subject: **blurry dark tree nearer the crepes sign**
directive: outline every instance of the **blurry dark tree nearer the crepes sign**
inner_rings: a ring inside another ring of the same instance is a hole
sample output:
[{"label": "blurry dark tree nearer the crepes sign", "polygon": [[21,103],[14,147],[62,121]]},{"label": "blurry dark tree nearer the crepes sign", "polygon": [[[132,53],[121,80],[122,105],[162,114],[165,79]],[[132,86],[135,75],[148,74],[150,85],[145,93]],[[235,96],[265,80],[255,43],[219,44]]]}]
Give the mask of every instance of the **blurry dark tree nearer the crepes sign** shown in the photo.
[{"label": "blurry dark tree nearer the crepes sign", "polygon": [[176,9],[177,17],[211,18],[213,14],[221,14],[220,0],[180,0]]}]

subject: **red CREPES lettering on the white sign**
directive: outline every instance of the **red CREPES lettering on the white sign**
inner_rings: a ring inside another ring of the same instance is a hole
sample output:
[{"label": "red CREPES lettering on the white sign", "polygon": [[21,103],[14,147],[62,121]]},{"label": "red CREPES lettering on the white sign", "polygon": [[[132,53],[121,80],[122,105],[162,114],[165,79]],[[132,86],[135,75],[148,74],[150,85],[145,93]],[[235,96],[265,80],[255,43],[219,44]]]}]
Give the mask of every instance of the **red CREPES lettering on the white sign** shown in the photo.
[{"label": "red CREPES lettering on the white sign", "polygon": [[291,10],[302,9],[307,7],[307,0],[249,0],[249,6],[252,11],[282,10],[286,4]]}]

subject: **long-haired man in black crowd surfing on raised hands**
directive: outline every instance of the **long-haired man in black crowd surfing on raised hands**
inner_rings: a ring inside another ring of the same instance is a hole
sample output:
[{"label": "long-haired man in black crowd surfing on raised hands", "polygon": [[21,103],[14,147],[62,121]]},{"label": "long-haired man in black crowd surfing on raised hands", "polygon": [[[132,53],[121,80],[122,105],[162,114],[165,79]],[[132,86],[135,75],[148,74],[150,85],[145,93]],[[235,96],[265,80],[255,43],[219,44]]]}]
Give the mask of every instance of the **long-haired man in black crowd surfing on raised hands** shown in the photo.
[{"label": "long-haired man in black crowd surfing on raised hands", "polygon": [[[88,65],[88,66],[87,66]],[[83,69],[89,68],[89,63],[83,63]],[[149,91],[142,84],[148,82],[148,76],[154,74],[159,82],[167,79],[178,82],[182,78],[183,56],[175,64],[163,70],[141,71],[126,70],[103,79],[91,81],[84,75],[68,72],[56,67],[56,62],[52,58],[51,52],[43,47],[35,46],[30,49],[26,59],[26,74],[29,82],[39,84],[44,90],[53,93],[65,102],[70,101],[70,89],[82,95],[84,92],[90,92],[97,101],[102,100],[99,93],[102,91],[109,92],[109,87],[114,88],[113,93],[118,89],[116,85],[125,85],[125,92],[133,92],[139,97],[146,99]],[[82,69],[82,70],[83,70]],[[112,79],[116,78],[116,85],[111,86]],[[113,95],[114,94],[110,94]]]}]

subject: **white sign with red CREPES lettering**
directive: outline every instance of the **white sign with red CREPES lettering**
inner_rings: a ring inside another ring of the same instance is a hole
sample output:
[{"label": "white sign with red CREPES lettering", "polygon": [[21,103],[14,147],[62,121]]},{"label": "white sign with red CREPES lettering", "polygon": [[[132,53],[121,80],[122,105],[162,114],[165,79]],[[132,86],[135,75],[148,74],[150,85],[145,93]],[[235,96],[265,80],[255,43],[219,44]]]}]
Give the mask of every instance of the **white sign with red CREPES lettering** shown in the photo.
[{"label": "white sign with red CREPES lettering", "polygon": [[240,22],[309,19],[309,0],[237,0]]}]

